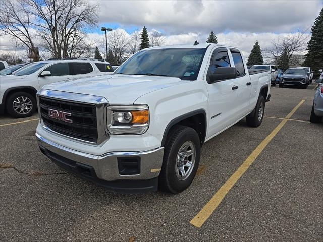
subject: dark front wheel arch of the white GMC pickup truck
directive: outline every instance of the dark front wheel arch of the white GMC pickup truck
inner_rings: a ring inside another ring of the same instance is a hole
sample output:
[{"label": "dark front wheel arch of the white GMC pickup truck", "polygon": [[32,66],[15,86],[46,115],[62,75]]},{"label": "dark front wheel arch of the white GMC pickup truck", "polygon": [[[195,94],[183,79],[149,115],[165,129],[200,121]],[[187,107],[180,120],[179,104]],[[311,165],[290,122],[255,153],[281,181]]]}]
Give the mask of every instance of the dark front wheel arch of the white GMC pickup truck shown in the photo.
[{"label": "dark front wheel arch of the white GMC pickup truck", "polygon": [[165,145],[167,136],[175,125],[184,125],[193,128],[197,132],[202,146],[205,141],[207,128],[206,112],[204,109],[197,109],[171,120],[171,122],[166,126],[163,139],[161,140],[161,146]]}]

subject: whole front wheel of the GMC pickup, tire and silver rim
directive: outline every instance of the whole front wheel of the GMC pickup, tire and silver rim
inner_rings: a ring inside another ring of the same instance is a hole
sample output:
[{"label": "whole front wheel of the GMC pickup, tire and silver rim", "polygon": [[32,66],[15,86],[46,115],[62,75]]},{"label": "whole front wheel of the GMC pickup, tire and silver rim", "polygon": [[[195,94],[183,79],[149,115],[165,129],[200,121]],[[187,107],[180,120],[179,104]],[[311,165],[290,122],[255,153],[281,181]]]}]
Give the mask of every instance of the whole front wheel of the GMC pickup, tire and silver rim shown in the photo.
[{"label": "whole front wheel of the GMC pickup, tire and silver rim", "polygon": [[180,193],[192,183],[201,155],[200,139],[187,126],[175,126],[165,144],[158,186],[161,191]]}]

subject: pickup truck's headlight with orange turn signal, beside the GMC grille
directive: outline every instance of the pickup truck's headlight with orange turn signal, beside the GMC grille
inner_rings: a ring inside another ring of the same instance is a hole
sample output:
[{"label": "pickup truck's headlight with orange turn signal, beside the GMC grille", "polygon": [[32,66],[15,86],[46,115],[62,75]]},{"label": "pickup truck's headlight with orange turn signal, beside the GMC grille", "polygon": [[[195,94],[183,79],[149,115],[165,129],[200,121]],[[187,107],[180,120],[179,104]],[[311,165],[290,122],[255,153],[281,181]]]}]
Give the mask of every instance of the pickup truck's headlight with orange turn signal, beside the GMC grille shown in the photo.
[{"label": "pickup truck's headlight with orange turn signal, beside the GMC grille", "polygon": [[147,105],[107,107],[107,129],[110,134],[143,134],[149,127]]}]

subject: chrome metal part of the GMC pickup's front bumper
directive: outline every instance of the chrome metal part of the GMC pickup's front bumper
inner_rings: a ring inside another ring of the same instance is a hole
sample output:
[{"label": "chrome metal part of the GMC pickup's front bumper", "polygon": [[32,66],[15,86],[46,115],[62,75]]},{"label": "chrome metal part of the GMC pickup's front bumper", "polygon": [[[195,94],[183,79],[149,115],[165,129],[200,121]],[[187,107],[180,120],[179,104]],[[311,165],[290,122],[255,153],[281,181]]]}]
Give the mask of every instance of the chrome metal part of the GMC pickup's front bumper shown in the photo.
[{"label": "chrome metal part of the GMC pickup's front bumper", "polygon": [[[159,175],[163,163],[164,147],[140,152],[110,152],[100,156],[83,153],[51,142],[36,133],[38,145],[42,152],[53,160],[53,156],[70,162],[77,162],[92,167],[97,178],[105,181],[147,180]],[[47,150],[49,153],[44,152]],[[121,175],[118,169],[118,158],[140,157],[140,173]]]}]

